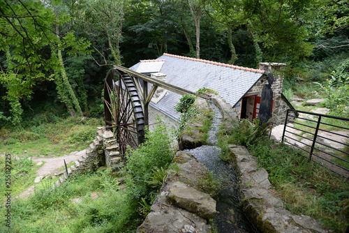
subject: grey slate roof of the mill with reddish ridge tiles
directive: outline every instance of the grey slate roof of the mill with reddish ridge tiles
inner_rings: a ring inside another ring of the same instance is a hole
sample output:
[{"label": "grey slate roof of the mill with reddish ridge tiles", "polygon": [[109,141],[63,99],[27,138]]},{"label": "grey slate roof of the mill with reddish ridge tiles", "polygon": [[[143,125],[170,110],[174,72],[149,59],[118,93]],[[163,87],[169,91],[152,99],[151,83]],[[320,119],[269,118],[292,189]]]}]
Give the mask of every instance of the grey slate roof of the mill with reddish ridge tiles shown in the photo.
[{"label": "grey slate roof of the mill with reddish ridge tiles", "polygon": [[[160,61],[159,61],[160,60]],[[160,70],[160,63],[162,63]],[[203,87],[217,91],[231,106],[244,96],[253,85],[258,82],[264,70],[232,66],[225,63],[181,57],[173,54],[163,54],[156,60],[145,60],[132,66],[130,69],[138,73],[149,74],[149,70],[157,67],[156,72],[167,75],[169,84],[198,91]],[[142,72],[140,72],[142,71]],[[179,113],[175,112],[174,106],[179,102],[181,95],[168,91],[157,103],[150,105],[167,114],[172,119],[179,119]]]}]

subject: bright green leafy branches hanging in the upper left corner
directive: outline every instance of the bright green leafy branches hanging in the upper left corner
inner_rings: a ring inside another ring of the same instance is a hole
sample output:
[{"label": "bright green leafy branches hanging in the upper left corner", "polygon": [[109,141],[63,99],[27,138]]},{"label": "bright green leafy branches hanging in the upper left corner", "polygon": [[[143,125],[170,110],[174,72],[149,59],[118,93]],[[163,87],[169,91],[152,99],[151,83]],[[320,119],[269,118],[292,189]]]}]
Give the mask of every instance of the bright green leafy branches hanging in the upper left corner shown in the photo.
[{"label": "bright green leafy branches hanging in the upper left corner", "polygon": [[[1,64],[0,82],[6,87],[12,114],[20,113],[20,100],[33,93],[32,87],[44,80],[53,80],[50,70],[60,70],[59,57],[53,50],[69,54],[87,50],[86,40],[76,40],[73,33],[57,37],[52,25],[63,24],[69,18],[62,14],[57,20],[52,5],[41,1],[0,0],[0,51],[6,52],[6,63]],[[12,104],[15,103],[15,104]],[[19,114],[20,115],[20,114]],[[14,115],[15,117],[15,115]],[[15,117],[14,124],[20,119]]]}]

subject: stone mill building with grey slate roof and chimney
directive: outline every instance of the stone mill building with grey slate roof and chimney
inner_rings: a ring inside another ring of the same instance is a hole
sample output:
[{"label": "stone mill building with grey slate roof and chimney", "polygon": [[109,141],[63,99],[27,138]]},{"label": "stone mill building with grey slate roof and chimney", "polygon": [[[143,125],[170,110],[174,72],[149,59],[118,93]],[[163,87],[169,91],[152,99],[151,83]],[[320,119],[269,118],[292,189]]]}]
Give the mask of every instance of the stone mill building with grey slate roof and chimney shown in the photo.
[{"label": "stone mill building with grey slate roof and chimney", "polygon": [[[260,63],[259,69],[253,69],[165,53],[158,59],[141,60],[131,70],[189,91],[214,90],[232,107],[236,117],[253,121],[260,118],[263,110],[273,123],[281,124],[286,110],[293,108],[281,93],[280,70],[284,67],[285,63]],[[177,93],[159,88],[149,105],[149,123],[159,115],[170,127],[177,128],[179,113],[174,106],[180,98]]]}]

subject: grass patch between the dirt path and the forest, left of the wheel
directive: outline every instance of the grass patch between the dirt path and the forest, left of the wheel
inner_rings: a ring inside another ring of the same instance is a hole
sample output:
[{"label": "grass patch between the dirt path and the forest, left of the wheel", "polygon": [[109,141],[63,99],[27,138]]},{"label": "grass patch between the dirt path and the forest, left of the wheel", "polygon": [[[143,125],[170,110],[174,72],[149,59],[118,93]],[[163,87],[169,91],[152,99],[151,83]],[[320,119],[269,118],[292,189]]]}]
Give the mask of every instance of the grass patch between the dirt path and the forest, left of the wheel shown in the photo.
[{"label": "grass patch between the dirt path and the forest, left of the wheel", "polygon": [[68,117],[55,123],[28,126],[20,130],[0,130],[3,151],[17,156],[62,156],[85,149],[94,139],[101,119]]}]

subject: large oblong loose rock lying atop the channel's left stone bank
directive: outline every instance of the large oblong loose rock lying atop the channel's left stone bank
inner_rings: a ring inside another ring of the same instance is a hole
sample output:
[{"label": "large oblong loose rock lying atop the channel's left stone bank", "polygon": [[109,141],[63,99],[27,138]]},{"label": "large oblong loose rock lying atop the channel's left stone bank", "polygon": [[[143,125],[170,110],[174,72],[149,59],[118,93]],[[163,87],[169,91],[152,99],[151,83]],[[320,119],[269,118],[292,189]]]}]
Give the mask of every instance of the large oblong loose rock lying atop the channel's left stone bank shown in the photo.
[{"label": "large oblong loose rock lying atop the channel's left stone bank", "polygon": [[213,218],[216,213],[216,201],[210,195],[181,182],[170,184],[168,200],[183,209],[197,213],[202,218]]}]

